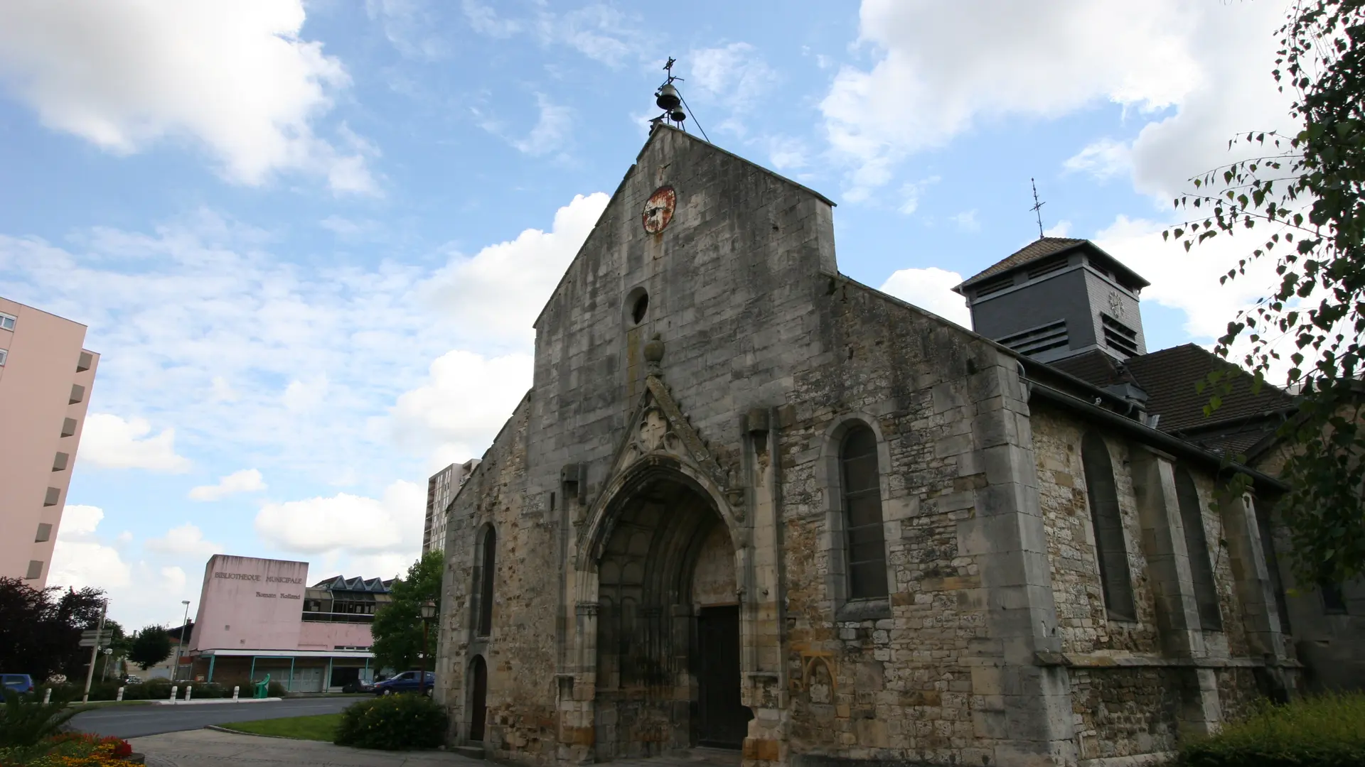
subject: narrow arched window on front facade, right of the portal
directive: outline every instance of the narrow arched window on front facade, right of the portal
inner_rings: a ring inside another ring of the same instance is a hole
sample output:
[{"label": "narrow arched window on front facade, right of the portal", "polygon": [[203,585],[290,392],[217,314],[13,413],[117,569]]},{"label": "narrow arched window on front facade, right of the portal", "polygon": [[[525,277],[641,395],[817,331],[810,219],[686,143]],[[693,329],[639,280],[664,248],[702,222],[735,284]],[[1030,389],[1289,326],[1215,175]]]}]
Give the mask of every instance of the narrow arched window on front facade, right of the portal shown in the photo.
[{"label": "narrow arched window on front facade, right of the portal", "polygon": [[849,599],[886,598],[886,540],[882,532],[882,478],[876,434],[854,426],[839,446],[844,531],[848,540]]}]

